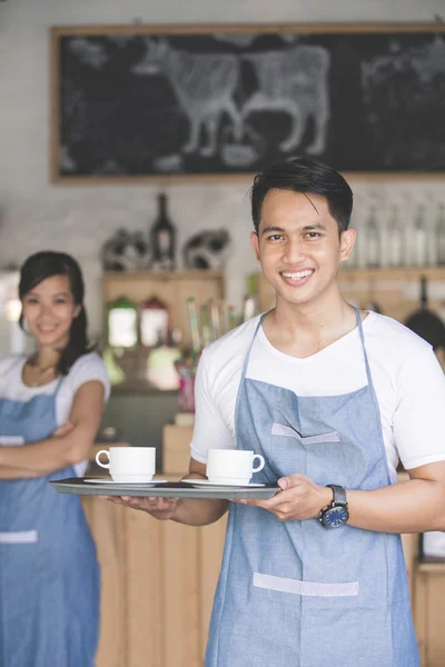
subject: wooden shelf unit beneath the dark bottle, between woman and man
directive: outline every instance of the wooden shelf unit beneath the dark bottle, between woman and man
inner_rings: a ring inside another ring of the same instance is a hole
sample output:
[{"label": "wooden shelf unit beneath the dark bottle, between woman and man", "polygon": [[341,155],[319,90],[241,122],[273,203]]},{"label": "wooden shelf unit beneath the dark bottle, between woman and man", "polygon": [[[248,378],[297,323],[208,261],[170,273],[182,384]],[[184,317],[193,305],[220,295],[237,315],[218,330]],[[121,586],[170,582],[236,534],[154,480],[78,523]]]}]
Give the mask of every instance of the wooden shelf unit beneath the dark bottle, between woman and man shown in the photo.
[{"label": "wooden shelf unit beneath the dark bottle, between woman and man", "polygon": [[[102,277],[102,300],[107,305],[120,296],[136,303],[158,297],[170,313],[170,328],[182,331],[182,344],[190,344],[187,299],[195,297],[198,306],[209,299],[224,299],[224,271],[128,271],[107,272]],[[105,318],[106,321],[106,318]]]}]

